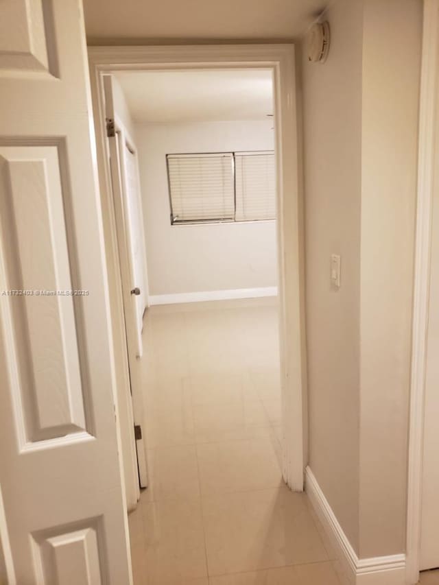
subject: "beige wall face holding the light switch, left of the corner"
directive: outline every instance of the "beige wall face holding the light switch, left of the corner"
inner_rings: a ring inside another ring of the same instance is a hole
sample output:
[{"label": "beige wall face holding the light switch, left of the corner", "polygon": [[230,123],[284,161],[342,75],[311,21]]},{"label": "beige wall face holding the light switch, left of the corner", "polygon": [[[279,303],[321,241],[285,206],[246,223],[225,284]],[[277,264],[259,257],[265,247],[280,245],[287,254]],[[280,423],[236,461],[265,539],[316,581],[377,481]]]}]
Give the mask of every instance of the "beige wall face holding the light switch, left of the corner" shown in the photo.
[{"label": "beige wall face holding the light switch, left of the corner", "polygon": [[327,18],[327,62],[302,60],[309,465],[358,550],[362,3],[340,0]]}]

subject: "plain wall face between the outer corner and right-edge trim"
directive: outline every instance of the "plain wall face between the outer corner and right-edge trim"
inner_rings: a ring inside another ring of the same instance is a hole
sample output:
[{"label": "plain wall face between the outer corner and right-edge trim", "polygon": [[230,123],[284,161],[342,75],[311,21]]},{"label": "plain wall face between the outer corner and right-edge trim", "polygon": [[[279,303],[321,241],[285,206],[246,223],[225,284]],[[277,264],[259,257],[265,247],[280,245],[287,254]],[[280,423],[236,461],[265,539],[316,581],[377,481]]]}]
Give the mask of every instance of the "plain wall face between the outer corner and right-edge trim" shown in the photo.
[{"label": "plain wall face between the outer corner and right-edge trim", "polygon": [[422,15],[418,0],[364,1],[359,551],[365,557],[405,548]]}]

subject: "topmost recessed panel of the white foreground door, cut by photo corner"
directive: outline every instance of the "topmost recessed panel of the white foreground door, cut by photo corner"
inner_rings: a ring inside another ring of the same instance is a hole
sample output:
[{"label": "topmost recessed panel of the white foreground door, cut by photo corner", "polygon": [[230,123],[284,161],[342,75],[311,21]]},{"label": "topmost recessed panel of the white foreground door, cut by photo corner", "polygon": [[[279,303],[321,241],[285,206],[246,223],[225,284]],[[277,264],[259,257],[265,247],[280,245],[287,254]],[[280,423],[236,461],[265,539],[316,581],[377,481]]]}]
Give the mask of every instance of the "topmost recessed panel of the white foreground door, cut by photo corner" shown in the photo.
[{"label": "topmost recessed panel of the white foreground door, cut by photo corner", "polygon": [[50,10],[50,0],[2,0],[0,71],[50,72]]}]

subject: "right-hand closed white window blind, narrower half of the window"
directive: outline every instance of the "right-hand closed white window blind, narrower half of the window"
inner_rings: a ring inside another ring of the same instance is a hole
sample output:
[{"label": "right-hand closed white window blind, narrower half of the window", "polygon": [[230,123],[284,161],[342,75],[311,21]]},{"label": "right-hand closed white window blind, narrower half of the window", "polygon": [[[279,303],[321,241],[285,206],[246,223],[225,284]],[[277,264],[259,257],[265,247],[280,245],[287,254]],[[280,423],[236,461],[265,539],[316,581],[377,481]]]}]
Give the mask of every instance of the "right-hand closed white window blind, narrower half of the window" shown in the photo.
[{"label": "right-hand closed white window blind, narrower half of the window", "polygon": [[237,222],[276,217],[274,152],[235,152]]}]

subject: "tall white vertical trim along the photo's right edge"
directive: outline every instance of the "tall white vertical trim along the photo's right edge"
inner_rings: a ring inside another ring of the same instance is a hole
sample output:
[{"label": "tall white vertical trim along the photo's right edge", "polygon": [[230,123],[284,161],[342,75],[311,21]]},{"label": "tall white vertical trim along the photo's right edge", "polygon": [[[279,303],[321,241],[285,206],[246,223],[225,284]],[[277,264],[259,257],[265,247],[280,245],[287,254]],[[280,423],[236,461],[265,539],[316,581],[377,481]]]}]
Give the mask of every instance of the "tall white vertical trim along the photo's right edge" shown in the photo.
[{"label": "tall white vertical trim along the photo's right edge", "polygon": [[407,486],[407,584],[418,582],[423,474],[425,357],[429,305],[431,206],[438,146],[439,0],[424,1],[423,53],[420,79],[418,198],[414,265],[412,380],[410,389]]}]

